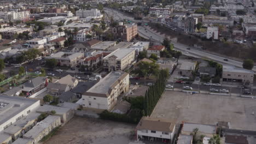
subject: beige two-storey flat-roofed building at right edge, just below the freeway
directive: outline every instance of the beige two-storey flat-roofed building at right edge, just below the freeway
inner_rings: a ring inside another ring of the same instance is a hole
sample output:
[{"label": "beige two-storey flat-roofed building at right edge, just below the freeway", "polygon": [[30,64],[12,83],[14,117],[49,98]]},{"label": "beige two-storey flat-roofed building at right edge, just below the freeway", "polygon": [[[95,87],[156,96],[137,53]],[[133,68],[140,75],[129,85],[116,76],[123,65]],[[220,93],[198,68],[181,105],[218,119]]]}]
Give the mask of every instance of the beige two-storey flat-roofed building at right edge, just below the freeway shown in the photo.
[{"label": "beige two-storey flat-roofed building at right edge, just below the freeway", "polygon": [[223,65],[223,83],[252,84],[254,72],[252,70],[236,68],[233,65]]}]

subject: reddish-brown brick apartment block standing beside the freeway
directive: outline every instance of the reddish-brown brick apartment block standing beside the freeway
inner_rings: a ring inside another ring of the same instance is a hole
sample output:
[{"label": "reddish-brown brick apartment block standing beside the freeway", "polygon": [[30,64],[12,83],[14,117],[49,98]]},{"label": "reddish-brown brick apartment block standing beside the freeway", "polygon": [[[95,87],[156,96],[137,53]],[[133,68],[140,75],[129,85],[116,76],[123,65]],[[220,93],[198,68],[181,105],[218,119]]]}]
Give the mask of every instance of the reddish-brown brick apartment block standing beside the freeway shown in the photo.
[{"label": "reddish-brown brick apartment block standing beside the freeway", "polygon": [[124,25],[123,22],[119,22],[119,26],[112,28],[112,32],[115,38],[123,41],[131,41],[138,34],[137,24],[131,23]]}]

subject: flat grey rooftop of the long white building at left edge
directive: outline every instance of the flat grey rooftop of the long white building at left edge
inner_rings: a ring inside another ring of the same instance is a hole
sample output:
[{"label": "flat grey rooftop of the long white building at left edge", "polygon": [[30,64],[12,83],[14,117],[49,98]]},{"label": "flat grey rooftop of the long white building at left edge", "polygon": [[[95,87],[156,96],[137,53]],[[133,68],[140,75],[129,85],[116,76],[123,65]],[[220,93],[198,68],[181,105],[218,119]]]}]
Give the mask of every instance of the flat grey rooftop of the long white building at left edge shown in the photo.
[{"label": "flat grey rooftop of the long white building at left edge", "polygon": [[0,125],[35,103],[40,105],[39,100],[0,95]]}]

